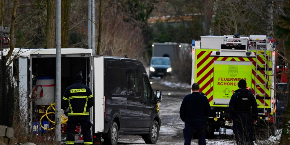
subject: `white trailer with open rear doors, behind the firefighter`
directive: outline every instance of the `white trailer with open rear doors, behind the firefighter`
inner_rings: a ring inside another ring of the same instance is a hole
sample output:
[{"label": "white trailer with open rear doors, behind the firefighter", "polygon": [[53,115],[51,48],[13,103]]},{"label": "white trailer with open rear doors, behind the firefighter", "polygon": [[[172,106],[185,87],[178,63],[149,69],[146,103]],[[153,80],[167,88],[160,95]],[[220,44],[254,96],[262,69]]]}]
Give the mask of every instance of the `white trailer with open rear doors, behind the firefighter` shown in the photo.
[{"label": "white trailer with open rear doors, behind the firefighter", "polygon": [[[4,49],[3,55],[7,55],[9,49]],[[15,59],[13,60],[14,56]],[[19,104],[24,119],[24,125],[28,130],[38,133],[44,131],[39,128],[39,116],[43,115],[44,109],[50,106],[47,99],[55,99],[55,90],[46,89],[43,97],[34,95],[33,90],[37,88],[37,78],[48,77],[53,80],[56,68],[56,49],[21,49],[15,48],[9,61],[13,61],[10,66],[13,68],[14,78],[17,80],[19,88]],[[61,49],[61,94],[66,87],[73,83],[73,77],[81,74],[85,85],[89,86],[95,98],[95,106],[90,109],[90,120],[92,123],[91,132],[96,134],[93,142],[101,143],[101,134],[104,131],[104,59],[103,56],[93,56],[91,49],[67,48]],[[7,63],[8,64],[8,63]],[[48,76],[49,75],[49,76]],[[48,81],[43,81],[48,82]],[[53,82],[53,81],[52,81]],[[55,83],[54,83],[55,84]],[[44,87],[53,87],[54,84],[46,84]],[[40,89],[40,88],[39,88]],[[45,90],[45,89],[43,89]],[[37,91],[37,92],[40,92]],[[52,97],[52,98],[50,98]],[[59,96],[62,97],[62,96]],[[31,100],[42,99],[42,103],[33,104]],[[49,126],[47,124],[47,126]],[[45,127],[47,127],[45,126]],[[36,127],[36,128],[35,128]],[[63,128],[62,128],[63,129]],[[83,142],[81,134],[75,135],[76,142]],[[62,142],[66,141],[66,136],[62,136]]]}]

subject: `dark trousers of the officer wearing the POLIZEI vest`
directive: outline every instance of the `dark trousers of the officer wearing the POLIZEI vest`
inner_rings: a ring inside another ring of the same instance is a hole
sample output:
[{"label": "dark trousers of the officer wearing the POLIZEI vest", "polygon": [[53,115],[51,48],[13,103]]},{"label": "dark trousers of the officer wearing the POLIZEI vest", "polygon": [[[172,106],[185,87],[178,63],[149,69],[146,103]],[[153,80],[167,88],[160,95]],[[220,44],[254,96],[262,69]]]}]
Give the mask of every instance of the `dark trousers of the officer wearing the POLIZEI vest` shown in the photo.
[{"label": "dark trousers of the officer wearing the POLIZEI vest", "polygon": [[253,145],[253,128],[251,115],[238,113],[239,117],[233,119],[233,133],[237,145]]}]

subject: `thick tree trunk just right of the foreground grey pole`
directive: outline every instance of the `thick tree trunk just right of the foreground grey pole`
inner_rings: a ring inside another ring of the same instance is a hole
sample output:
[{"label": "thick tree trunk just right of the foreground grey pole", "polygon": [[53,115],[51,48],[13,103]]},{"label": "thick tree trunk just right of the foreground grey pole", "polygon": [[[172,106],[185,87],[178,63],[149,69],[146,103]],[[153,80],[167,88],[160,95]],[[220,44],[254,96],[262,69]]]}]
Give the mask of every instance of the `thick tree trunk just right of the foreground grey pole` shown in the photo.
[{"label": "thick tree trunk just right of the foreground grey pole", "polygon": [[61,48],[68,48],[70,1],[61,0]]}]

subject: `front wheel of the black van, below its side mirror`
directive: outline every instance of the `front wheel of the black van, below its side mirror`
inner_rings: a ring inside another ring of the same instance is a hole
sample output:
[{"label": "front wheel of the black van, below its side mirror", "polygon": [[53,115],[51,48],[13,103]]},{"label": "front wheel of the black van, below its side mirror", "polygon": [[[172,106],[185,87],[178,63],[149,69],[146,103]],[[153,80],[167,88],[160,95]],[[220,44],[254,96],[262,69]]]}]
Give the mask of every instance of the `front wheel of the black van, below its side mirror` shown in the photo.
[{"label": "front wheel of the black van, below its side mirror", "polygon": [[142,135],[146,144],[156,144],[159,137],[159,125],[156,120],[153,121],[151,130],[148,135]]}]

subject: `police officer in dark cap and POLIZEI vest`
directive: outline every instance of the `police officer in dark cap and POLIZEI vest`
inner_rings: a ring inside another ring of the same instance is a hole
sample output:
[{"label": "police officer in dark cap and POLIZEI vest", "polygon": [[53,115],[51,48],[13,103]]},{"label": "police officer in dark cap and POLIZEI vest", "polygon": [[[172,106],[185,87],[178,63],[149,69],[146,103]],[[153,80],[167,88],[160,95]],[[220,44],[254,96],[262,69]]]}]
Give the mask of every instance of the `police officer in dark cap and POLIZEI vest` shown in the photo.
[{"label": "police officer in dark cap and POLIZEI vest", "polygon": [[[247,88],[247,82],[241,79],[238,83],[238,90],[232,95],[229,103],[229,115],[233,120],[233,132],[237,145],[254,144],[253,123],[258,120],[258,106],[256,99],[250,88]],[[253,114],[251,113],[251,107]]]}]

